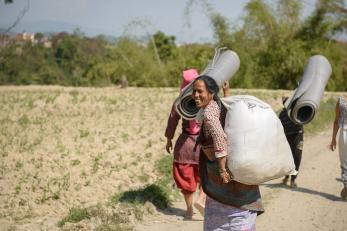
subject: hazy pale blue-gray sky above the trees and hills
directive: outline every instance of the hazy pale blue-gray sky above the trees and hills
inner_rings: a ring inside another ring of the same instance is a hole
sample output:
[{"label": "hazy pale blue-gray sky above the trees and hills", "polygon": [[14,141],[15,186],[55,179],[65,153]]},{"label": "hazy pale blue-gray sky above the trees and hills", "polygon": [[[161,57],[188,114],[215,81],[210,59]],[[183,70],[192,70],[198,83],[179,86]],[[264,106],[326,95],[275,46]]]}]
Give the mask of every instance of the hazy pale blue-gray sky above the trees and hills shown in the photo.
[{"label": "hazy pale blue-gray sky above the trees and hills", "polygon": [[[213,40],[212,29],[200,1],[193,1],[190,15],[185,15],[188,0],[0,0],[0,27],[13,23],[20,11],[30,2],[30,9],[15,32],[48,32],[79,27],[89,36],[100,33],[119,36],[125,31],[146,36],[161,30],[176,36],[178,42]],[[211,5],[226,16],[231,25],[241,22],[248,0],[210,0]],[[267,0],[275,3],[276,0]],[[305,0],[304,12],[314,8],[315,0]],[[133,21],[141,22],[129,26]],[[188,26],[190,24],[190,26]]]}]

